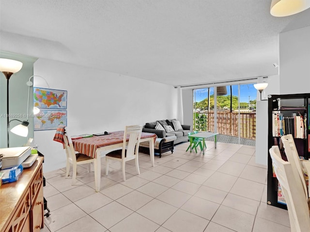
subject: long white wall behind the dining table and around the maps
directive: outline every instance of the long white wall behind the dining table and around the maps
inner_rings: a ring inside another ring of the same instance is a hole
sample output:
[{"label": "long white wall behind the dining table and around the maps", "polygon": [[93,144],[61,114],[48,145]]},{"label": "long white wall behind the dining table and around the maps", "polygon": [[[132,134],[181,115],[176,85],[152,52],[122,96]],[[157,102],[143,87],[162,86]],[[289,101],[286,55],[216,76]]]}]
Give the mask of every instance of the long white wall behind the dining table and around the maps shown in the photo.
[{"label": "long white wall behind the dining table and around the maps", "polygon": [[[50,88],[68,91],[70,135],[121,131],[126,125],[177,116],[173,86],[41,58],[33,73],[47,79]],[[44,172],[65,167],[65,152],[53,141],[54,134],[34,131],[38,150],[45,155]]]}]

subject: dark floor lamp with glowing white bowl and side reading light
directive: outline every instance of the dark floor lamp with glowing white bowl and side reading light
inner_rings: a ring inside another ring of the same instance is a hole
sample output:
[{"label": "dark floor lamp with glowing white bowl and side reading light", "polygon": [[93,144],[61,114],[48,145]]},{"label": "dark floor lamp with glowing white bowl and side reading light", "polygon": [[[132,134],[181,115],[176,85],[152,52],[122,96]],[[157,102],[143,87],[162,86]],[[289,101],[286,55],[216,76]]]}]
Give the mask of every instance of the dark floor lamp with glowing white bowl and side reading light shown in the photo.
[{"label": "dark floor lamp with glowing white bowl and side reading light", "polygon": [[[20,61],[13,60],[13,59],[0,58],[0,72],[2,72],[4,74],[4,76],[7,80],[7,85],[6,85],[6,111],[7,111],[7,115],[6,115],[6,118],[7,118],[7,132],[8,132],[8,134],[7,134],[8,147],[10,146],[10,143],[9,143],[9,128],[10,128],[10,120],[9,120],[9,80],[10,80],[10,77],[14,73],[17,73],[19,70],[21,70],[22,66],[23,66],[23,63]],[[18,120],[18,119],[13,119],[13,120]],[[11,121],[13,121],[13,120],[11,120]],[[26,121],[24,121],[24,122],[26,122]],[[22,124],[21,124],[21,126],[23,126],[23,127],[25,127],[25,125],[28,123],[28,122],[26,122],[26,123],[24,123],[24,122],[22,122]],[[28,126],[28,124],[27,124],[27,126]],[[18,126],[16,126],[16,127],[18,127]],[[28,128],[27,128],[27,134],[28,134]]]}]

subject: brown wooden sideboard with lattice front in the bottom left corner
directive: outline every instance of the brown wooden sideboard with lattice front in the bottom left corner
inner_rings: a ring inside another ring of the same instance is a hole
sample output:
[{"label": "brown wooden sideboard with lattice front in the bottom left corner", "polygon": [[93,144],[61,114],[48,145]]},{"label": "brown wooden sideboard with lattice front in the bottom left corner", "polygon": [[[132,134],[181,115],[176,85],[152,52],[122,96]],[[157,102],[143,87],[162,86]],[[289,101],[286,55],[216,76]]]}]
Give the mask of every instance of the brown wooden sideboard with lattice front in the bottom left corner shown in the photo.
[{"label": "brown wooden sideboard with lattice front in the bottom left corner", "polygon": [[0,232],[40,231],[43,221],[43,158],[25,168],[17,181],[0,187]]}]

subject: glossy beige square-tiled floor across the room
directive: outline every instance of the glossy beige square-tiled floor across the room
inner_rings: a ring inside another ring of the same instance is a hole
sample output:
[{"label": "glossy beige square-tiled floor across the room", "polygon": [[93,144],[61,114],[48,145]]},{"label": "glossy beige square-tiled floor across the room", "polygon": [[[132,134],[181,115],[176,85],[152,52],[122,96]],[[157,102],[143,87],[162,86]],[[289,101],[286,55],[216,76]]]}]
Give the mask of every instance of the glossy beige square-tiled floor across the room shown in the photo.
[{"label": "glossy beige square-tiled floor across the room", "polygon": [[71,185],[65,169],[45,173],[44,195],[50,216],[43,232],[290,232],[286,210],[266,204],[266,166],[255,163],[255,147],[207,142],[202,152],[155,157],[140,153],[140,175],[134,161],[120,162],[105,176],[102,158],[101,190],[94,191],[94,174],[78,168]]}]

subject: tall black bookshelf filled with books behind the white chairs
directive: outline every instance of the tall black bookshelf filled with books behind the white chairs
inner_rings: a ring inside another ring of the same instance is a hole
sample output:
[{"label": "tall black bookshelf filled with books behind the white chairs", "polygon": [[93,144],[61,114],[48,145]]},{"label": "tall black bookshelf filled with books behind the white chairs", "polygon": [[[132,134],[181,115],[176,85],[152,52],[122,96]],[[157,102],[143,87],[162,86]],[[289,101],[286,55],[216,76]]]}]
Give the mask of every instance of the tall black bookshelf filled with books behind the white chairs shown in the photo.
[{"label": "tall black bookshelf filled with books behind the white chairs", "polygon": [[268,96],[268,175],[267,203],[287,209],[282,202],[283,194],[278,179],[274,176],[269,149],[278,145],[283,160],[286,160],[280,137],[292,134],[301,159],[310,158],[310,127],[309,127],[310,93],[285,94]]}]

